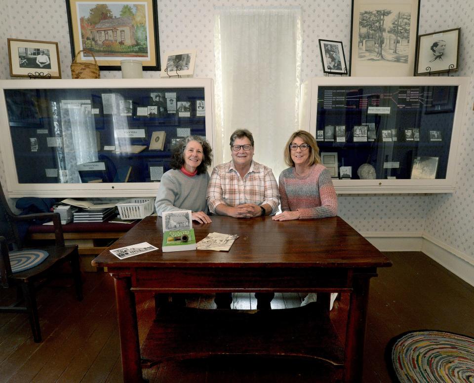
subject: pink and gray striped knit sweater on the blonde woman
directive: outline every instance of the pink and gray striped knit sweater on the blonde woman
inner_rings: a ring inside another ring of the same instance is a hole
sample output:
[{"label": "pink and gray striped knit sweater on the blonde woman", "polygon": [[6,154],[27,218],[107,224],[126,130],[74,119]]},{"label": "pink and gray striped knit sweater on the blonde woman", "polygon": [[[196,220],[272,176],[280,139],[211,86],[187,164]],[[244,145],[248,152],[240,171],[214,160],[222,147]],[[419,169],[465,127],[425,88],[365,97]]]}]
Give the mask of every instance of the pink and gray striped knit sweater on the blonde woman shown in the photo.
[{"label": "pink and gray striped knit sweater on the blonde woman", "polygon": [[283,170],[278,179],[281,211],[300,212],[301,219],[334,217],[337,196],[328,170],[313,165],[306,176],[299,176],[294,167]]}]

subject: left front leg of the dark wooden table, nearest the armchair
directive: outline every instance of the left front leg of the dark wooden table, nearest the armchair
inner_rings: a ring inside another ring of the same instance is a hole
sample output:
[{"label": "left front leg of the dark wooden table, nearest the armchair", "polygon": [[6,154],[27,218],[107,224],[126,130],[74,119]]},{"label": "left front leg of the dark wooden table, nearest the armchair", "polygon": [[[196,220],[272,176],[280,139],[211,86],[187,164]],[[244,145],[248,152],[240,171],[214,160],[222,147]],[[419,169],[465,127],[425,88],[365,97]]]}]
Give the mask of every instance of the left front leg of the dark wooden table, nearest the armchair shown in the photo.
[{"label": "left front leg of the dark wooden table, nearest the armchair", "polygon": [[137,308],[135,295],[130,290],[130,275],[111,274],[114,277],[117,301],[118,332],[122,356],[123,382],[146,382],[143,380],[138,339]]}]

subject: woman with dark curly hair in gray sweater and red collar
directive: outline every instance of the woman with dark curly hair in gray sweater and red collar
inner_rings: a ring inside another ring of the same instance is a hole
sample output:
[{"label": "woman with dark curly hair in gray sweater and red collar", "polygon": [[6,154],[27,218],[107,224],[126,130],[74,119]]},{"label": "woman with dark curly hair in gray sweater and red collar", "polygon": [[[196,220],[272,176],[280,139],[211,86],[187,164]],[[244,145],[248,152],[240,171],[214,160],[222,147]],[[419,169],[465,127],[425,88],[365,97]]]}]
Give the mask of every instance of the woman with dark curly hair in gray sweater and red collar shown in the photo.
[{"label": "woman with dark curly hair in gray sweater and red collar", "polygon": [[199,136],[181,140],[173,150],[171,170],[161,177],[155,207],[158,216],[164,211],[191,210],[193,220],[211,223],[206,202],[212,148]]}]

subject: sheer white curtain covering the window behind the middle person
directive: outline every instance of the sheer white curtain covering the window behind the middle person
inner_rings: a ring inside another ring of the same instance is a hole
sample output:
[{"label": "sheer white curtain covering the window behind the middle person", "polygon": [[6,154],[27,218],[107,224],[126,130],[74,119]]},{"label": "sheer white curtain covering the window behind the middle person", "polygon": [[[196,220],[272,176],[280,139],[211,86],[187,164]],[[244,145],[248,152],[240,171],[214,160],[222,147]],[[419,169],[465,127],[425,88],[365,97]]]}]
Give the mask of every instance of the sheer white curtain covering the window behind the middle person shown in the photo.
[{"label": "sheer white curtain covering the window behind the middle person", "polygon": [[216,7],[215,163],[231,158],[239,128],[255,139],[254,159],[278,179],[284,145],[298,126],[300,7]]}]

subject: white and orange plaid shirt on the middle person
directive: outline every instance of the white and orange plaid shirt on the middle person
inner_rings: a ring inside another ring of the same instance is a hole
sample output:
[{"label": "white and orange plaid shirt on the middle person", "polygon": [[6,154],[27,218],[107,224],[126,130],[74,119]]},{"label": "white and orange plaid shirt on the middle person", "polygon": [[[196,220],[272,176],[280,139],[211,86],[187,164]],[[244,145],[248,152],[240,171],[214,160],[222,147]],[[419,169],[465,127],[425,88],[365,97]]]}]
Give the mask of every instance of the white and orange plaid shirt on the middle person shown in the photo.
[{"label": "white and orange plaid shirt on the middle person", "polygon": [[228,206],[268,203],[274,214],[278,209],[279,196],[272,169],[253,160],[243,178],[235,169],[233,160],[217,165],[212,170],[207,187],[207,204],[211,213],[215,213],[221,203]]}]

